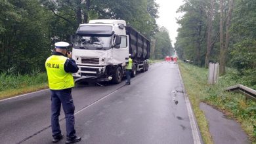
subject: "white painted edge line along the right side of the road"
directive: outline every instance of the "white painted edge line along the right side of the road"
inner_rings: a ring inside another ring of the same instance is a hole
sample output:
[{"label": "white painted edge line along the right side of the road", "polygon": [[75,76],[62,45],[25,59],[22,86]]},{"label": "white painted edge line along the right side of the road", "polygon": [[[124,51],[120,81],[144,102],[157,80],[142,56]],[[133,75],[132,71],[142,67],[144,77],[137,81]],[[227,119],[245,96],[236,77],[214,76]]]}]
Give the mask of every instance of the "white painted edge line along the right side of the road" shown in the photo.
[{"label": "white painted edge line along the right side of the road", "polygon": [[[179,65],[178,65],[178,67],[179,67]],[[189,121],[190,121],[190,126],[191,126],[191,130],[192,130],[194,143],[195,144],[201,144],[199,133],[198,133],[198,127],[196,125],[196,120],[194,118],[194,114],[193,114],[193,111],[192,111],[192,106],[190,104],[190,100],[188,99],[188,95],[186,94],[185,86],[184,86],[184,83],[183,83],[183,80],[182,80],[182,77],[181,77],[180,67],[178,68],[178,70],[179,70],[180,81],[181,81],[181,84],[182,84],[182,90],[183,90],[184,98],[185,98],[185,102],[186,102],[186,109],[188,110],[188,118],[189,118]]]}]

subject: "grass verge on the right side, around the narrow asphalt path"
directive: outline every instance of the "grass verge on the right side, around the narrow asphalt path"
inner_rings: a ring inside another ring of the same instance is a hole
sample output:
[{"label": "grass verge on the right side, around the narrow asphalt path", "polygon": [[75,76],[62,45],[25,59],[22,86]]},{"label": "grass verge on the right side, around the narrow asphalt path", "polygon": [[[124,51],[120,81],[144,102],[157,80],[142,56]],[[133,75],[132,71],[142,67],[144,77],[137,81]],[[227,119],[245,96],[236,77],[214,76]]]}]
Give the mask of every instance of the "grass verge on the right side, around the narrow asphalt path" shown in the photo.
[{"label": "grass verge on the right side, around the narrow asphalt path", "polygon": [[200,101],[213,105],[213,107],[240,122],[242,128],[249,135],[249,139],[253,143],[256,142],[256,103],[251,100],[245,101],[245,97],[240,94],[223,92],[223,88],[238,84],[236,83],[238,82],[237,79],[235,81],[230,79],[236,77],[234,69],[228,69],[227,74],[219,78],[218,84],[209,85],[207,84],[207,69],[182,62],[179,62],[179,67],[204,143],[213,143],[213,140],[205,115],[200,110]]}]

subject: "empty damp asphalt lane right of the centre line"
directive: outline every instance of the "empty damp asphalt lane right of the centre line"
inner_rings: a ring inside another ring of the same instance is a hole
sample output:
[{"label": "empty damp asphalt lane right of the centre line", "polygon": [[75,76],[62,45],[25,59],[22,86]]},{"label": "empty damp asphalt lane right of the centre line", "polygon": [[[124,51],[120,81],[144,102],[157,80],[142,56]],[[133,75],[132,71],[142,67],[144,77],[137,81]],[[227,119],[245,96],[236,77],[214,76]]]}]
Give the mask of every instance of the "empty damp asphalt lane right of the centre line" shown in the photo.
[{"label": "empty damp asphalt lane right of the centre line", "polygon": [[[181,90],[177,65],[161,63],[77,113],[80,143],[194,143]],[[51,130],[24,143],[51,143]]]}]

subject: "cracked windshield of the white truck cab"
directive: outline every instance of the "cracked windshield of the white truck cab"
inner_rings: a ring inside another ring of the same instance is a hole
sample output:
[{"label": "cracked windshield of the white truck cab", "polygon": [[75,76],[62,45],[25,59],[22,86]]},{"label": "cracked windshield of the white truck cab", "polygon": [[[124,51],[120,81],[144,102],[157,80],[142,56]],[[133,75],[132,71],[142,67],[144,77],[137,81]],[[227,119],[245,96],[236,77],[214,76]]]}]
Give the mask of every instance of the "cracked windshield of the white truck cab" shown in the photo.
[{"label": "cracked windshield of the white truck cab", "polygon": [[74,48],[88,50],[108,50],[112,45],[112,37],[85,37],[76,35]]}]

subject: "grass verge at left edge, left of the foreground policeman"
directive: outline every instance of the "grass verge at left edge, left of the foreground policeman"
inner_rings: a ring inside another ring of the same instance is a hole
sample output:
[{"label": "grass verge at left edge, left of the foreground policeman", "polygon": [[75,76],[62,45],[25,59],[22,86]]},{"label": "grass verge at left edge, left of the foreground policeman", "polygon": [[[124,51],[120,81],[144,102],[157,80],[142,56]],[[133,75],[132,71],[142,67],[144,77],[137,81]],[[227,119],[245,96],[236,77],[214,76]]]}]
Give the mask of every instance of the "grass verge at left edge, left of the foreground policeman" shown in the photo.
[{"label": "grass verge at left edge, left of the foreground policeman", "polygon": [[45,88],[48,88],[46,73],[30,75],[0,74],[0,99],[11,98],[18,94],[25,94]]}]

